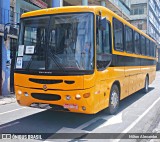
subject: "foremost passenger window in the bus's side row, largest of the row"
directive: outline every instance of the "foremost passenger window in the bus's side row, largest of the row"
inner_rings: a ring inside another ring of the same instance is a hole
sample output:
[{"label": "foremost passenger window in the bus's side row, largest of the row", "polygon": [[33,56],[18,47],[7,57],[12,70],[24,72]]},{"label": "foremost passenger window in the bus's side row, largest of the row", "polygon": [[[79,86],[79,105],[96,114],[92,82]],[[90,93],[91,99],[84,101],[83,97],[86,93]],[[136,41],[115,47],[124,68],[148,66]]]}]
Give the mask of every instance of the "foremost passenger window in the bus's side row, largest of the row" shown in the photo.
[{"label": "foremost passenger window in the bus's side row, largest of the row", "polygon": [[118,51],[124,50],[123,29],[124,29],[123,23],[114,18],[113,19],[114,49]]}]

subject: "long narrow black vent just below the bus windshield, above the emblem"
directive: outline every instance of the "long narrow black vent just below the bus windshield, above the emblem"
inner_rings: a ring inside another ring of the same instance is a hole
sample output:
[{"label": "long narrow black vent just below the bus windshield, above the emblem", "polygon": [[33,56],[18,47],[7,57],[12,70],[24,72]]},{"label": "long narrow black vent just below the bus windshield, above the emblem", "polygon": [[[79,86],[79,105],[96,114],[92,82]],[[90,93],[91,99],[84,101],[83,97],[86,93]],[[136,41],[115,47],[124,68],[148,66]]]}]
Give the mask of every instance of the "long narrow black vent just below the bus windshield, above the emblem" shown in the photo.
[{"label": "long narrow black vent just below the bus windshield, above the emblem", "polygon": [[63,80],[34,79],[34,78],[30,78],[29,81],[39,84],[58,84],[63,82]]}]

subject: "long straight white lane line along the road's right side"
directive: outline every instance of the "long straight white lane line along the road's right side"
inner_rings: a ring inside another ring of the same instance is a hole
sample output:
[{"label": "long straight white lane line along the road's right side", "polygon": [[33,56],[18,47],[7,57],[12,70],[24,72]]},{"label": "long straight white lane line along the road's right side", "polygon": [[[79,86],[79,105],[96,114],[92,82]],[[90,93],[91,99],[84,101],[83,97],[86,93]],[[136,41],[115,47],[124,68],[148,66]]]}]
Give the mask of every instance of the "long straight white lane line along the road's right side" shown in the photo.
[{"label": "long straight white lane line along the road's right side", "polygon": [[[132,124],[130,124],[124,131],[123,133],[128,133],[157,103],[160,101],[160,97],[142,114],[140,115]],[[116,142],[120,141],[120,138],[123,137],[123,135],[120,135]]]}]

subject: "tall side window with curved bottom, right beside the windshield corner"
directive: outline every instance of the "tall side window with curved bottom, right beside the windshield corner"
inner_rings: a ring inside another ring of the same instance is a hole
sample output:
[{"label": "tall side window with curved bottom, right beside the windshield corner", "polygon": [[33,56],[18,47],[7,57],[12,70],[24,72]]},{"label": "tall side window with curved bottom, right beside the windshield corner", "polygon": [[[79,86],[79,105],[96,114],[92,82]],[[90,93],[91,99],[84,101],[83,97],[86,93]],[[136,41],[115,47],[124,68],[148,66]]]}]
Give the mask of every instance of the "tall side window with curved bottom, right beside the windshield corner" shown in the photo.
[{"label": "tall side window with curved bottom, right beside the windshield corner", "polygon": [[106,21],[105,24],[103,23],[103,25],[105,25],[105,28],[98,27],[98,31],[97,31],[98,44],[97,44],[96,57],[97,57],[98,70],[106,69],[112,59],[110,23]]}]

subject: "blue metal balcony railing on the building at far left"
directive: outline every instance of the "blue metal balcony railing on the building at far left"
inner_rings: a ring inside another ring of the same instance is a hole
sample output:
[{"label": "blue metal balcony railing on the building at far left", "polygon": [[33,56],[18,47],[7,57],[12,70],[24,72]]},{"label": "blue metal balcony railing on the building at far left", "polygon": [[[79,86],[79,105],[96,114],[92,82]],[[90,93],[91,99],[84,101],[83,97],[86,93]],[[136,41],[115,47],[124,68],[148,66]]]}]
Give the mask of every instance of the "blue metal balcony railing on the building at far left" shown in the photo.
[{"label": "blue metal balcony railing on the building at far left", "polygon": [[4,8],[0,8],[0,24],[4,25],[6,23],[18,23],[19,19],[19,13]]}]

